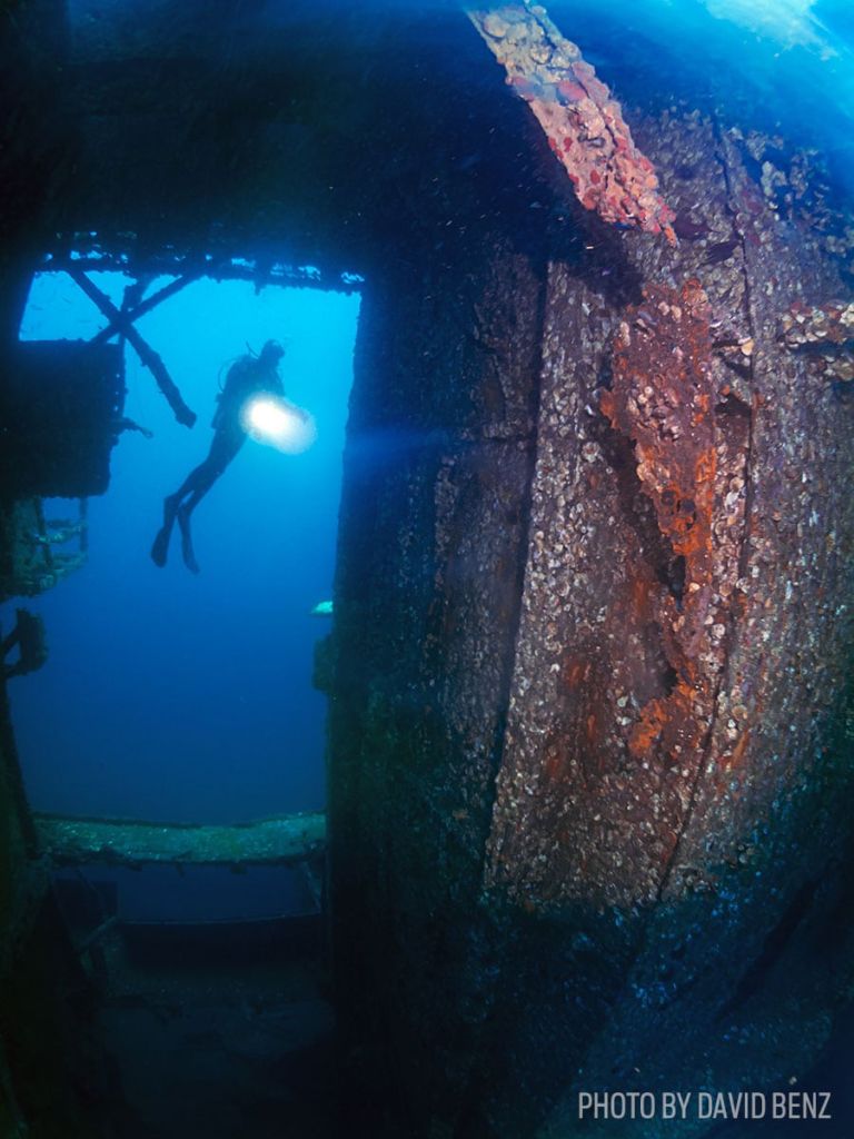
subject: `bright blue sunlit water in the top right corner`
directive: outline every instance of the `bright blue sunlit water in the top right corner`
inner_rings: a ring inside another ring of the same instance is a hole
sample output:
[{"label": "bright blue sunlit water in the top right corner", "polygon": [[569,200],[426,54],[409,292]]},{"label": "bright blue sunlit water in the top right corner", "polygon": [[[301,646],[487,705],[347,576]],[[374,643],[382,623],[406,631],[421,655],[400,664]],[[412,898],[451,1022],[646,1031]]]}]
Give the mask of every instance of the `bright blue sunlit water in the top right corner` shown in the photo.
[{"label": "bright blue sunlit water in the top right corner", "polygon": [[820,149],[831,177],[854,183],[849,0],[555,0],[547,9],[618,99],[670,89]]}]

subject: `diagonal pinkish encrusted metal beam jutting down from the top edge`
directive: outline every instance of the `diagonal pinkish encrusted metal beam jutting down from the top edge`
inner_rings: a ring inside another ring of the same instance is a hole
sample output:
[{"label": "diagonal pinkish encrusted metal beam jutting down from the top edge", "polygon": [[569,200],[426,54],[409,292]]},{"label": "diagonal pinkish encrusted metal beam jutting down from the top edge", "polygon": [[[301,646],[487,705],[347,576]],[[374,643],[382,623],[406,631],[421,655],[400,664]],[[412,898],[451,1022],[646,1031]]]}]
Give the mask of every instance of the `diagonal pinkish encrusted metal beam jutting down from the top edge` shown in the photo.
[{"label": "diagonal pinkish encrusted metal beam jutting down from the top edge", "polygon": [[585,210],[675,243],[675,215],[658,194],[652,163],[632,141],[619,104],[545,9],[502,5],[469,17],[536,116]]}]

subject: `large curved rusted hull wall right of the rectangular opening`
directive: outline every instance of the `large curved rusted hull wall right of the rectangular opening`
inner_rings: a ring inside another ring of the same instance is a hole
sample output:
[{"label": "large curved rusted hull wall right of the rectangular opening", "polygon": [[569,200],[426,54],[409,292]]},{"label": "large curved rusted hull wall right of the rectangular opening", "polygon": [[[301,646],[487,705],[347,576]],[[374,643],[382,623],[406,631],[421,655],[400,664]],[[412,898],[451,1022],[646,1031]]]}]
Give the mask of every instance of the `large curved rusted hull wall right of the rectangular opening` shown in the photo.
[{"label": "large curved rusted hull wall right of the rectangular opening", "polygon": [[591,222],[366,296],[332,899],[413,1136],[651,1139],[578,1090],[786,1087],[851,984],[851,404],[780,339],[843,284],[737,134],[639,136],[680,248]]}]

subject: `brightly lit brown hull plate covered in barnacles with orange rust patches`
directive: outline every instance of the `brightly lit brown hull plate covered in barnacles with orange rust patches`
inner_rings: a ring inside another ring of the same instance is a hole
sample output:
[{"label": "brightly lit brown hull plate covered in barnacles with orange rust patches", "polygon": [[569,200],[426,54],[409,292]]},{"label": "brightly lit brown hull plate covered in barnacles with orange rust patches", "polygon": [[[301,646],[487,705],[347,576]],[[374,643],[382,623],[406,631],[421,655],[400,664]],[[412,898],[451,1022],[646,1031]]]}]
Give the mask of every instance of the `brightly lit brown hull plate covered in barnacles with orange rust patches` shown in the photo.
[{"label": "brightly lit brown hull plate covered in barnacles with orange rust patches", "polygon": [[565,360],[545,396],[486,879],[525,906],[654,902],[700,787],[725,788],[747,746],[726,728],[709,768],[741,604],[750,424],[709,309],[689,279],[623,310],[599,401],[609,431],[592,403],[564,402]]}]

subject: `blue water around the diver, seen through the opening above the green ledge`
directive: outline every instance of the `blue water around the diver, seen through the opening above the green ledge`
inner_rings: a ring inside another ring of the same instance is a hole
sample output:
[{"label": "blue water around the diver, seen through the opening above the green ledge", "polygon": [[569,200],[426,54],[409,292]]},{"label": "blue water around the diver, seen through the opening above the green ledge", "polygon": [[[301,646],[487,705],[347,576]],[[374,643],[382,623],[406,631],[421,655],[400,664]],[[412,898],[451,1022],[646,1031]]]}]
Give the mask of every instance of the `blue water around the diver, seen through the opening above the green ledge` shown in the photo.
[{"label": "blue water around the diver, seen through the opening above the green ledge", "polygon": [[[114,301],[128,280],[92,273]],[[149,294],[166,284],[154,281]],[[326,697],[312,654],[329,618],[359,297],[197,281],[140,319],[198,413],[179,425],[132,350],[108,493],[89,502],[89,558],[27,601],[50,656],[11,694],[32,805],[68,814],[237,821],[323,806]],[[23,338],[88,338],[104,320],[64,274],[33,284]],[[195,517],[202,572],[178,535],[149,558],[162,500],[207,452],[221,378],[249,345],[286,341],[280,375],[318,426],[298,456],[248,440]],[[51,500],[48,517],[75,503]]]}]

